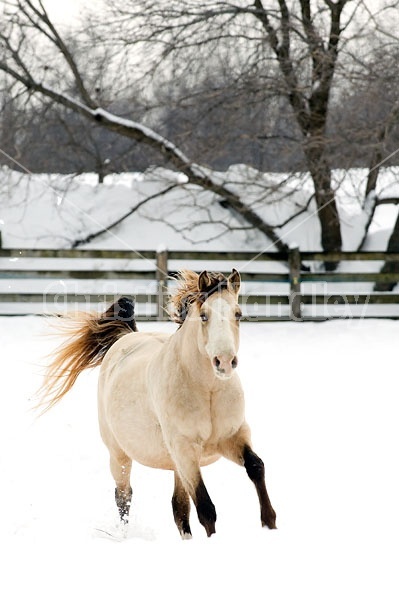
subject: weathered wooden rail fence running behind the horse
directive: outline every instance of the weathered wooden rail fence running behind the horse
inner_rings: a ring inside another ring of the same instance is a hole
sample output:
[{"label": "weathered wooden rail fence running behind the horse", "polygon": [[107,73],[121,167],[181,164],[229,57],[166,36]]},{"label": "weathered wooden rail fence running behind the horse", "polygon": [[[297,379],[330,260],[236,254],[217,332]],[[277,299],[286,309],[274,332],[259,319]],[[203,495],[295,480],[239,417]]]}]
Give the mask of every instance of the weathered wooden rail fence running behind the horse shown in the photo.
[{"label": "weathered wooden rail fence running behind the horse", "polygon": [[[60,313],[74,307],[89,310],[129,294],[142,308],[137,311],[139,320],[167,320],[167,295],[173,287],[169,277],[176,271],[207,268],[229,272],[236,267],[243,281],[240,302],[247,320],[399,318],[399,294],[371,290],[372,283],[396,282],[398,275],[380,273],[380,264],[374,270],[351,272],[352,261],[365,264],[387,260],[399,261],[399,254],[327,254],[300,252],[298,248],[289,253],[259,254],[0,249],[0,314]],[[325,271],[325,262],[339,262],[340,268]],[[345,270],[346,264],[351,269]],[[368,286],[367,290],[359,291],[359,284]],[[342,285],[343,291],[336,289]],[[379,307],[380,314],[373,314],[371,307]]]}]

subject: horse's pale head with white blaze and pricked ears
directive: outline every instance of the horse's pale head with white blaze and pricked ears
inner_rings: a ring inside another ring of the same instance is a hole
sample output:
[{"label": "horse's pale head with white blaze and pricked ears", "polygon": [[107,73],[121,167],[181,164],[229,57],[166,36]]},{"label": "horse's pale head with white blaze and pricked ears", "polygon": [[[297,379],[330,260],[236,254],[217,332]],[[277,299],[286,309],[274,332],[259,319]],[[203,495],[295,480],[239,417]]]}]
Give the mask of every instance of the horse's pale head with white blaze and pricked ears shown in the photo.
[{"label": "horse's pale head with white blaze and pricked ears", "polygon": [[198,278],[199,348],[209,357],[215,375],[229,379],[237,366],[241,278],[235,269],[229,277],[222,277],[215,281],[207,271],[203,271]]}]

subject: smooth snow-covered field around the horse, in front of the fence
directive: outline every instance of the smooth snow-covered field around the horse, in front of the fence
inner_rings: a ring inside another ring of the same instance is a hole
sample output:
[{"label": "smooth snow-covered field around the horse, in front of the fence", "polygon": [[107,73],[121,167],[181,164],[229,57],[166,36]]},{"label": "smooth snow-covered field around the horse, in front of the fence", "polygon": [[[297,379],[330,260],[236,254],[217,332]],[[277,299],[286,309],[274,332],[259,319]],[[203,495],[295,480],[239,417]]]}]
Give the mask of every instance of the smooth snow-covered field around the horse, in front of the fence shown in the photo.
[{"label": "smooth snow-covered field around the horse, in front of the fence", "polygon": [[[142,330],[172,324],[143,323]],[[243,323],[239,372],[278,530],[262,530],[243,469],[203,470],[207,539],[173,522],[170,473],[133,468],[128,537],[96,422],[97,371],[31,411],[59,340],[40,317],[0,319],[0,592],[29,598],[397,600],[399,322]]]}]

